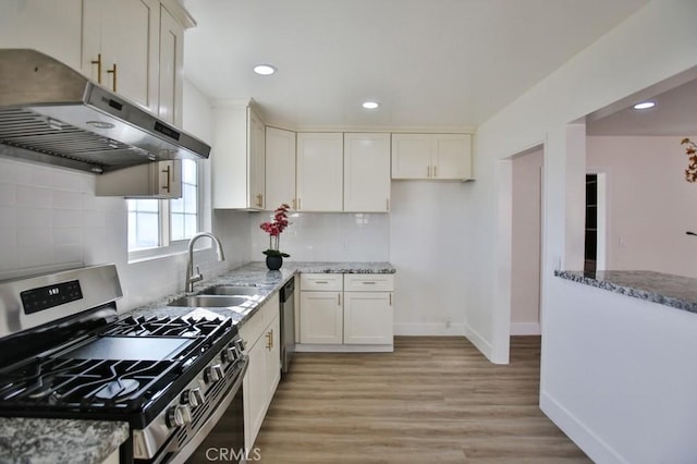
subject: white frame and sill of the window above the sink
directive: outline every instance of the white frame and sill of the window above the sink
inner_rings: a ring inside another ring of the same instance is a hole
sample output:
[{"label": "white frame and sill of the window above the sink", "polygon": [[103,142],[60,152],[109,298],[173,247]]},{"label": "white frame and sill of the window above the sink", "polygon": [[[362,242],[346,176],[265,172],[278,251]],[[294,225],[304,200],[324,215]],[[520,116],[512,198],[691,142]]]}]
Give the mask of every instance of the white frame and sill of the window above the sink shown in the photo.
[{"label": "white frame and sill of the window above the sink", "polygon": [[[200,162],[196,162],[196,232],[201,231],[204,213],[204,192],[203,192],[203,166]],[[142,248],[135,251],[129,251],[129,264],[145,261],[149,259],[158,259],[167,256],[179,255],[187,252],[188,239],[183,240],[170,240],[172,216],[170,208],[170,199],[158,199],[159,202],[159,225],[160,236],[159,246],[151,248]],[[126,208],[127,209],[127,208]],[[126,219],[127,220],[127,219]],[[127,248],[127,244],[126,244]]]}]

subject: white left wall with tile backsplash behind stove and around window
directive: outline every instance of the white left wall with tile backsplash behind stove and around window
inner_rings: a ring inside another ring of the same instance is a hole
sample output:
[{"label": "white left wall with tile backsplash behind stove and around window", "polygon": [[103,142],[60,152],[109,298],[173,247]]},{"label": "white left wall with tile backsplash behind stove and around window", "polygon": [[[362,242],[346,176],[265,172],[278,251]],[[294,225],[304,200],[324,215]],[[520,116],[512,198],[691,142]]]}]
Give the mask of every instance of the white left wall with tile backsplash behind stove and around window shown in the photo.
[{"label": "white left wall with tile backsplash behind stove and around window", "polygon": [[[210,139],[206,98],[186,85],[184,105],[184,129]],[[207,161],[200,164],[208,169]],[[95,174],[0,158],[0,279],[113,262],[124,290],[118,304],[121,312],[183,290],[185,254],[127,262],[126,203],[96,197],[95,183]],[[204,216],[210,228],[208,208]],[[228,260],[216,262],[211,249],[197,252],[196,262],[206,277],[249,257],[247,213],[228,212],[215,219]]]}]

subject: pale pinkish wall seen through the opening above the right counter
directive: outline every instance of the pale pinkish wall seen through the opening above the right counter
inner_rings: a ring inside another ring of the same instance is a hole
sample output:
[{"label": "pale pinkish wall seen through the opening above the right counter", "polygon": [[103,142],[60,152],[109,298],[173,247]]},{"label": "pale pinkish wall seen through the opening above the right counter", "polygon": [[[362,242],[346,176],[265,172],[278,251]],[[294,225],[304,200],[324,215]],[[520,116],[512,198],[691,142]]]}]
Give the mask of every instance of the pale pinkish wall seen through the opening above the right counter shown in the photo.
[{"label": "pale pinkish wall seen through the opening above the right counter", "polygon": [[[689,136],[690,134],[685,134]],[[697,185],[683,137],[588,137],[589,171],[608,179],[608,269],[697,277]]]}]

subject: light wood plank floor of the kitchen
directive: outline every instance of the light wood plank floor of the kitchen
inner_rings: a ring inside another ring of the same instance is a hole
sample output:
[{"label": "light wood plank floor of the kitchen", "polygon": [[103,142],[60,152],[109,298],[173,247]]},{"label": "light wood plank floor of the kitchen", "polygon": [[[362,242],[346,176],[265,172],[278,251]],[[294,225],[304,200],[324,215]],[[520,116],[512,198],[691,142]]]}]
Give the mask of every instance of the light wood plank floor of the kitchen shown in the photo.
[{"label": "light wood plank floor of the kitchen", "polygon": [[296,354],[255,447],[265,464],[588,463],[539,410],[539,337],[511,364],[463,338],[394,353]]}]

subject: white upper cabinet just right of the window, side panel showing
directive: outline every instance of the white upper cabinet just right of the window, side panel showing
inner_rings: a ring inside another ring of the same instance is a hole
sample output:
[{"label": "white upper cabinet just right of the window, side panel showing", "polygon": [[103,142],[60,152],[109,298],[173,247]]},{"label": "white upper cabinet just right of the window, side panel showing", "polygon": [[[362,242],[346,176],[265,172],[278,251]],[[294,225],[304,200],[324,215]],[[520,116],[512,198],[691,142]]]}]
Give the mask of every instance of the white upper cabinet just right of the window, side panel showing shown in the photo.
[{"label": "white upper cabinet just right of the window, side panel showing", "polygon": [[213,106],[213,208],[265,208],[264,122],[250,100]]}]

